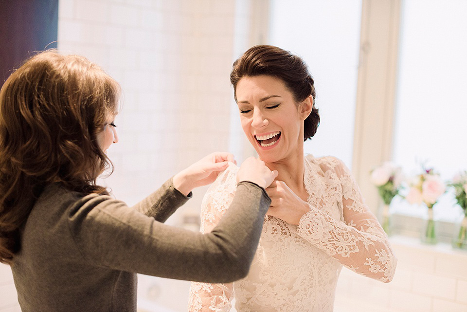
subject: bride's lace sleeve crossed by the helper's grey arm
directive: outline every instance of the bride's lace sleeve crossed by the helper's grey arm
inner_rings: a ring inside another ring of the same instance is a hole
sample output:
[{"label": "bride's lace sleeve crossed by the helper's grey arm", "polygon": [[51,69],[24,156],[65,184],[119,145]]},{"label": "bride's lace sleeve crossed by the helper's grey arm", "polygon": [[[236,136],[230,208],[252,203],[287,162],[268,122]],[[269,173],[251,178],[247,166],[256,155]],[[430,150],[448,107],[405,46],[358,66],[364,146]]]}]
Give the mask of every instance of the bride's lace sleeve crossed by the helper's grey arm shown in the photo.
[{"label": "bride's lace sleeve crossed by the helper's grey arm", "polygon": [[[209,187],[201,204],[201,233],[209,233],[232,203],[238,167],[229,164]],[[188,298],[189,312],[229,312],[233,299],[232,283],[192,282]]]}]

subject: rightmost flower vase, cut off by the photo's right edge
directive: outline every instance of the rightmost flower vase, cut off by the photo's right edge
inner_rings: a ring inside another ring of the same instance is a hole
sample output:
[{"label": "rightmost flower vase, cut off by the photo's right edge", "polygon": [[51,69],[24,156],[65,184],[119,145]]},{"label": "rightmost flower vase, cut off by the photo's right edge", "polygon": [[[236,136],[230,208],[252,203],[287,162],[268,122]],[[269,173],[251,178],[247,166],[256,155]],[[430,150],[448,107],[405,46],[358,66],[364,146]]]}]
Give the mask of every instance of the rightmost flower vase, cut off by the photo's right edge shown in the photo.
[{"label": "rightmost flower vase, cut off by the photo's right edge", "polygon": [[467,249],[467,171],[456,174],[448,186],[454,188],[457,204],[464,211],[459,233],[454,237],[452,245],[457,248]]}]

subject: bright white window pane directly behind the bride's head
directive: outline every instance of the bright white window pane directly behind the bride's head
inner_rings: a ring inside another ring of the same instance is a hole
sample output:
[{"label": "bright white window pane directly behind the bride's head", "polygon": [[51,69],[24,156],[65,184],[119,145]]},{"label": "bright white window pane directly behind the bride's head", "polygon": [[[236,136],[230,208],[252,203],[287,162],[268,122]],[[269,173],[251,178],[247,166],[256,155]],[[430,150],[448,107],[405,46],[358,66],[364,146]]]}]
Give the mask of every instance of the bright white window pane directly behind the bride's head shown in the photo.
[{"label": "bright white window pane directly behind the bride's head", "polygon": [[305,153],[350,167],[359,61],[361,0],[272,0],[269,43],[302,56],[315,80],[321,125]]}]

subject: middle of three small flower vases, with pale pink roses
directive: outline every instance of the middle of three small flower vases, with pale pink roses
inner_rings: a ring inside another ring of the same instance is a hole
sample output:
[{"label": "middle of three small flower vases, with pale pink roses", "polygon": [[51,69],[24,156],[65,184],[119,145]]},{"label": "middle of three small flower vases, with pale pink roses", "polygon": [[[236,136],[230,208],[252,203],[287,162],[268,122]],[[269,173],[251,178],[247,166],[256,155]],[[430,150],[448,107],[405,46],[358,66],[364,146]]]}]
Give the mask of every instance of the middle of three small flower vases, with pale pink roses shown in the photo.
[{"label": "middle of three small flower vases, with pale pink roses", "polygon": [[423,172],[409,181],[409,193],[405,196],[407,202],[414,204],[425,203],[428,207],[428,220],[425,226],[422,240],[426,243],[437,242],[435,222],[433,220],[433,206],[446,191],[446,184],[439,174],[431,169],[423,169]]}]

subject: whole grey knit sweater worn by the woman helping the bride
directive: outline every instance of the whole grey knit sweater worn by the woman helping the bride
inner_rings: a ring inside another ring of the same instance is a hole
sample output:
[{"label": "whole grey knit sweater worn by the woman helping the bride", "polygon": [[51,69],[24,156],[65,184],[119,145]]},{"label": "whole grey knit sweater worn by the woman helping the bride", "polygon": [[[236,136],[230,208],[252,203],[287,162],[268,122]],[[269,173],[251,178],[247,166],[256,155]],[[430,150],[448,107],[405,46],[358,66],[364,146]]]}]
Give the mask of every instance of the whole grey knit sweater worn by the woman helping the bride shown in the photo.
[{"label": "whole grey knit sweater worn by the woman helping the bride", "polygon": [[23,312],[136,311],[136,273],[210,283],[247,275],[270,199],[242,182],[216,228],[164,225],[188,197],[170,179],[135,207],[109,196],[48,186],[14,258]]}]

